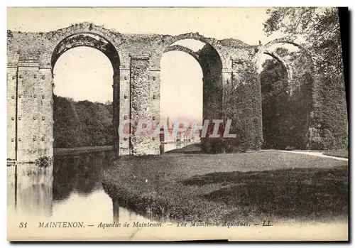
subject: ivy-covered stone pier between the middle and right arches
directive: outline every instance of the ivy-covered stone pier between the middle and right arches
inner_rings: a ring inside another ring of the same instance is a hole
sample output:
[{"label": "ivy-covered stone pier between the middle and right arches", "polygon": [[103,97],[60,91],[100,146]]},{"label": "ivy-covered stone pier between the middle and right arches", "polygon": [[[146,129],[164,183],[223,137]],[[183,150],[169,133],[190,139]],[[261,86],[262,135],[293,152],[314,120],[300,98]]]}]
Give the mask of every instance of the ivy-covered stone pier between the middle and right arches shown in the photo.
[{"label": "ivy-covered stone pier between the middle and right arches", "polygon": [[261,148],[261,95],[256,68],[248,60],[236,60],[233,77],[224,96],[226,119],[231,119],[236,139],[224,140],[229,152],[255,151]]}]

